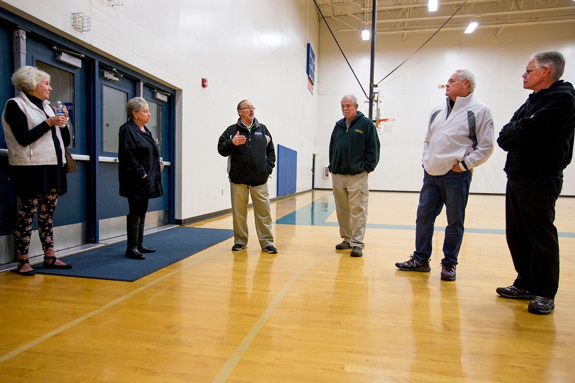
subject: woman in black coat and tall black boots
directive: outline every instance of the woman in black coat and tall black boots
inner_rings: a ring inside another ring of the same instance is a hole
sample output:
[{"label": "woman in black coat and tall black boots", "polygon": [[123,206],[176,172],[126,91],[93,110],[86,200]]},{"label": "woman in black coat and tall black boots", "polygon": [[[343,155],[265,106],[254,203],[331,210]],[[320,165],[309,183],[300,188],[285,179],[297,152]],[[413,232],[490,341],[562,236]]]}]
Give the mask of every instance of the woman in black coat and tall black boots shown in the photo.
[{"label": "woman in black coat and tall black boots", "polygon": [[120,127],[118,144],[118,178],[120,196],[128,198],[128,246],[126,256],[145,259],[144,223],[150,198],[162,197],[162,169],[158,144],[144,124],[150,122],[150,110],[143,97],[134,97],[126,104],[129,121]]}]

